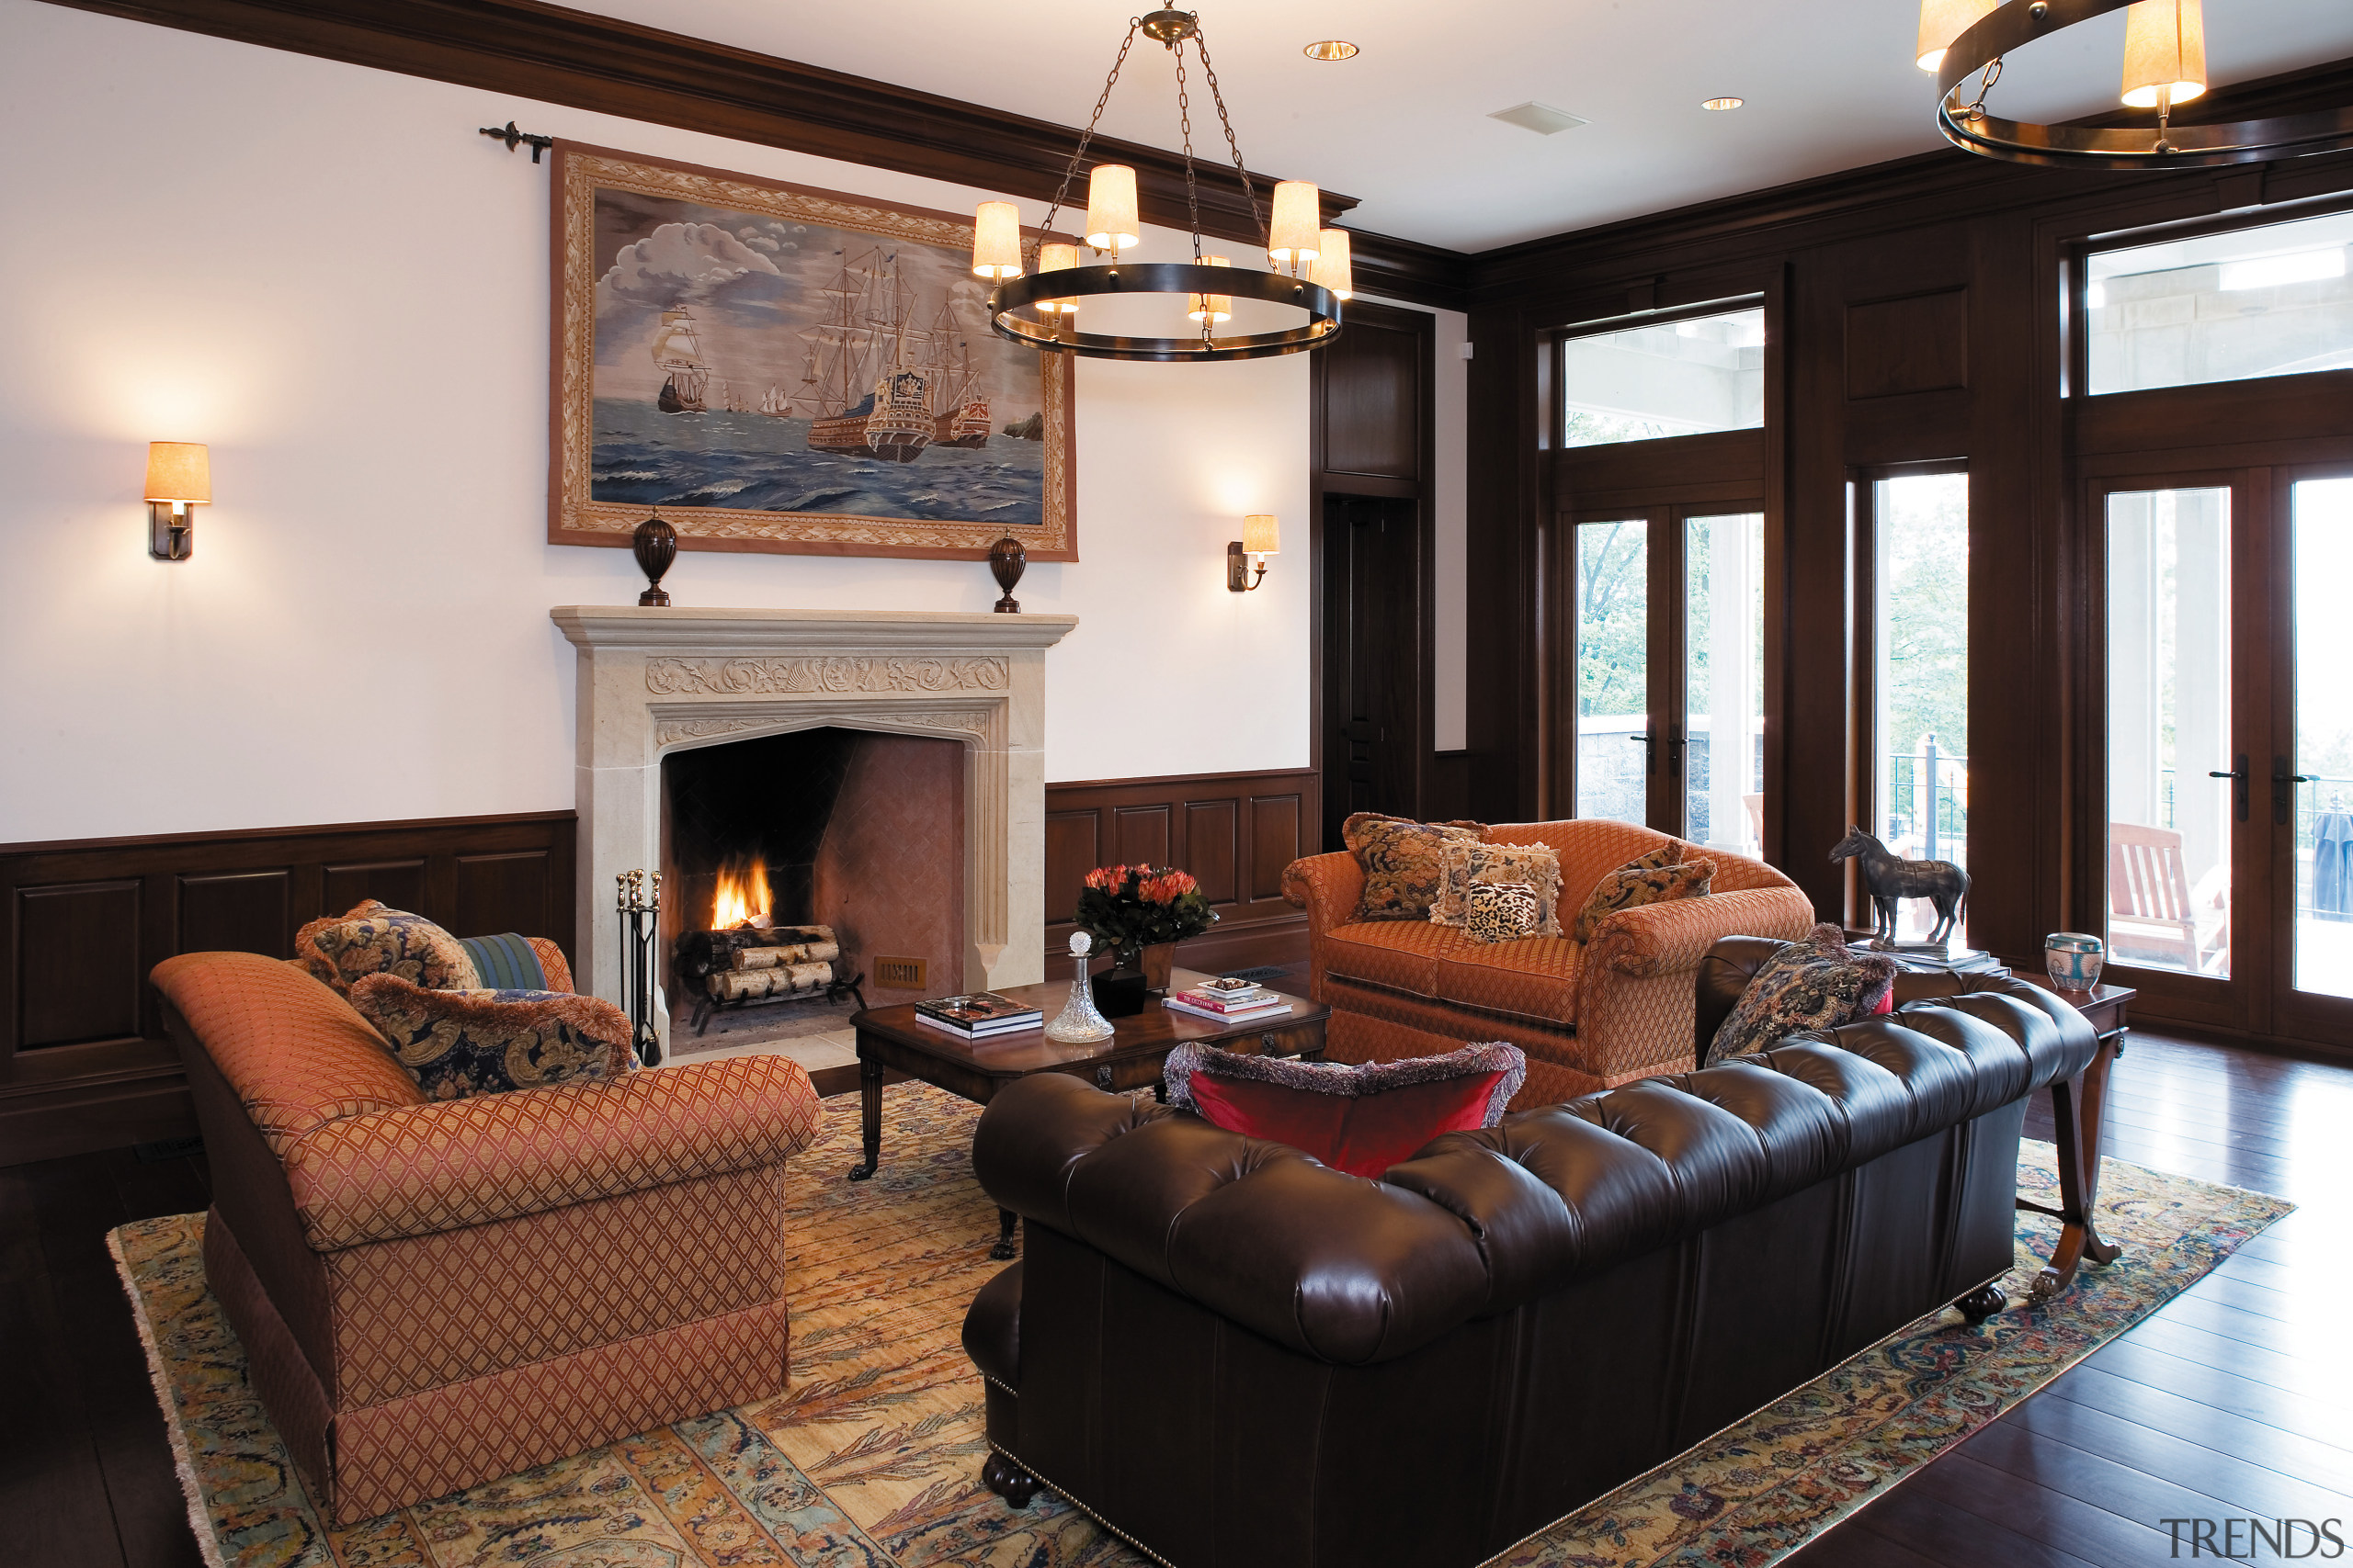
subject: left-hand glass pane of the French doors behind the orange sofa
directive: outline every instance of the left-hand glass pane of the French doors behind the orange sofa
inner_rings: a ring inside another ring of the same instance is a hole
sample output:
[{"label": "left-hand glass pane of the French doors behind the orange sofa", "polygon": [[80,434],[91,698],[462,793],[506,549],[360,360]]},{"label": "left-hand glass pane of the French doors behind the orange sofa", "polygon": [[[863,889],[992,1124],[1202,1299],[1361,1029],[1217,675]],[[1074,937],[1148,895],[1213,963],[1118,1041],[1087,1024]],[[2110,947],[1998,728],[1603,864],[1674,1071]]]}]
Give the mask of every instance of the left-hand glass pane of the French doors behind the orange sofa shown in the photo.
[{"label": "left-hand glass pane of the French doors behind the orange sofa", "polygon": [[1642,820],[1649,524],[1577,524],[1577,816]]}]

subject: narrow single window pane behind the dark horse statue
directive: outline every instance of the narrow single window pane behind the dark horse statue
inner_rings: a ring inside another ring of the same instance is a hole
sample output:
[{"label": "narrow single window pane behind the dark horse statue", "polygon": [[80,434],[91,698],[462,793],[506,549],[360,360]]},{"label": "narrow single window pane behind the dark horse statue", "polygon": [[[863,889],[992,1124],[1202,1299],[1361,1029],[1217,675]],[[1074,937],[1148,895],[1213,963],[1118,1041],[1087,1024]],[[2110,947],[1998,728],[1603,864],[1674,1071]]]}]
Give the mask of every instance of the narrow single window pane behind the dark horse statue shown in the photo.
[{"label": "narrow single window pane behind the dark horse statue", "polygon": [[[1873,835],[1908,860],[1967,870],[1969,475],[1880,480],[1871,515]],[[1925,940],[1934,924],[1929,900],[1897,905],[1897,940]]]}]

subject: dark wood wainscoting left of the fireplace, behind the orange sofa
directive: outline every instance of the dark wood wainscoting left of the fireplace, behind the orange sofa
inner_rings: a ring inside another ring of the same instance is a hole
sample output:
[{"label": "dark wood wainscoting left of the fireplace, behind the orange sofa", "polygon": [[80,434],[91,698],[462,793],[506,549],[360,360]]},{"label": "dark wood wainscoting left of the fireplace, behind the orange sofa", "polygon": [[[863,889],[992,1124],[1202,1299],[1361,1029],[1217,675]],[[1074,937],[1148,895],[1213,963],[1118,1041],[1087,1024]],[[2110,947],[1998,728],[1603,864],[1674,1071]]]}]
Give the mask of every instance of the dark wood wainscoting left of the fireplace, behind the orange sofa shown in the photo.
[{"label": "dark wood wainscoting left of the fireplace, behind the orange sofa", "polygon": [[574,952],[574,816],[0,844],[0,1166],[195,1133],[148,971],[381,898]]}]

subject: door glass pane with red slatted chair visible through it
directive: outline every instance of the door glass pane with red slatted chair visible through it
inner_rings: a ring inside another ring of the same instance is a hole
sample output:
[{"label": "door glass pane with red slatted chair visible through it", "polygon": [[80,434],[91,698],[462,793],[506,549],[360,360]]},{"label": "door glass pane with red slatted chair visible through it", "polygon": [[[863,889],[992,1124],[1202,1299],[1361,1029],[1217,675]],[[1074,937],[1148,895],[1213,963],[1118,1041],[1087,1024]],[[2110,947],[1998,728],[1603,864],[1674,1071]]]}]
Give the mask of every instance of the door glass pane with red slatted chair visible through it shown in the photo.
[{"label": "door glass pane with red slatted chair visible through it", "polygon": [[2231,491],[2108,496],[2108,957],[2231,973]]}]

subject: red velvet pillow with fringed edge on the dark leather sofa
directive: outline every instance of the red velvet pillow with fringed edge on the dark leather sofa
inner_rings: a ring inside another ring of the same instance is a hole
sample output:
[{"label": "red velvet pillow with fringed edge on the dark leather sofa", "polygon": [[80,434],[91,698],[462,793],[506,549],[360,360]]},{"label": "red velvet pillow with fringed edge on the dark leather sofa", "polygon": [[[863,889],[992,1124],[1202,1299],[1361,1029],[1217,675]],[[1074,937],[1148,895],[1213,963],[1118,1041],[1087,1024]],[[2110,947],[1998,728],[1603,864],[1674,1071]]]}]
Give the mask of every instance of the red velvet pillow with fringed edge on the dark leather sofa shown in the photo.
[{"label": "red velvet pillow with fringed edge on the dark leather sofa", "polygon": [[1464,1046],[1405,1063],[1297,1063],[1184,1044],[1169,1103],[1209,1126],[1287,1143],[1334,1171],[1379,1178],[1438,1133],[1494,1126],[1527,1079],[1518,1046]]}]

